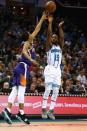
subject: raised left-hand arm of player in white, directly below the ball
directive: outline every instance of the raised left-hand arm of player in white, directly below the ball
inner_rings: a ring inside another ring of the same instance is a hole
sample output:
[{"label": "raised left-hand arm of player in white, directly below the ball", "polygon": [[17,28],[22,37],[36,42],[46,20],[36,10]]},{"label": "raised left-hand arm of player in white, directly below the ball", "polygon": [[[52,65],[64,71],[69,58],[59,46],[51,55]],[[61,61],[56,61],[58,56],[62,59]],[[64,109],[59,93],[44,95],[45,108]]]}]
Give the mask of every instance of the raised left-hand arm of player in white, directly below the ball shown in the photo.
[{"label": "raised left-hand arm of player in white, directly below the ball", "polygon": [[51,37],[52,37],[52,21],[53,17],[48,16],[48,29],[47,29],[47,39],[46,39],[46,51],[48,51],[51,47]]}]

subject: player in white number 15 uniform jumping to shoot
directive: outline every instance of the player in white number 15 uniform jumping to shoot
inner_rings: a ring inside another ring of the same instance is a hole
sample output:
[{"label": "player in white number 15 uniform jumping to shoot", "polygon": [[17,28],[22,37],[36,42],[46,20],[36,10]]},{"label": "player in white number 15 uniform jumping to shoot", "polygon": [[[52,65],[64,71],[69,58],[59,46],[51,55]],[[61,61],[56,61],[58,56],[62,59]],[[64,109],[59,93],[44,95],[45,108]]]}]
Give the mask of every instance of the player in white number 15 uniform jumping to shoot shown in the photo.
[{"label": "player in white number 15 uniform jumping to shoot", "polygon": [[[55,120],[54,107],[56,104],[59,88],[61,86],[61,59],[62,59],[62,47],[64,44],[64,33],[62,30],[63,21],[59,23],[59,37],[57,34],[52,34],[52,21],[53,17],[48,17],[48,30],[46,41],[47,52],[47,66],[44,70],[45,76],[45,92],[42,101],[42,118],[50,118]],[[52,91],[51,103],[49,110],[47,111],[47,101]]]}]

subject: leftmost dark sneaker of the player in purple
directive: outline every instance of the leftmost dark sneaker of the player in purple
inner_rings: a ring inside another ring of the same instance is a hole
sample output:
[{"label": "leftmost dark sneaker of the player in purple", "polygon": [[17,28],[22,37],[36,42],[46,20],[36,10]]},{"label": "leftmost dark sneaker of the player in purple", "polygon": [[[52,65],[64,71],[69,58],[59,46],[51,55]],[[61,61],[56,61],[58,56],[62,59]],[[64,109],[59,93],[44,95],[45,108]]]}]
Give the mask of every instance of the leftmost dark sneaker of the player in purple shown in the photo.
[{"label": "leftmost dark sneaker of the player in purple", "polygon": [[2,111],[2,116],[8,124],[12,124],[11,113],[6,108]]}]

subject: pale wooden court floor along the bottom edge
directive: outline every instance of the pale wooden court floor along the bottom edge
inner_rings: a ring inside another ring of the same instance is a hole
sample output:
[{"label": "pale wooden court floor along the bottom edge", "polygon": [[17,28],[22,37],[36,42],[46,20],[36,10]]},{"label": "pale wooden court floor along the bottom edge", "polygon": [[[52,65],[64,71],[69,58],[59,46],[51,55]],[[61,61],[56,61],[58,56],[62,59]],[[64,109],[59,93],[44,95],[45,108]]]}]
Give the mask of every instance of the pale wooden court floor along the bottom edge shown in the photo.
[{"label": "pale wooden court floor along the bottom edge", "polygon": [[18,121],[8,125],[1,120],[0,131],[87,131],[87,120],[31,120],[30,125]]}]

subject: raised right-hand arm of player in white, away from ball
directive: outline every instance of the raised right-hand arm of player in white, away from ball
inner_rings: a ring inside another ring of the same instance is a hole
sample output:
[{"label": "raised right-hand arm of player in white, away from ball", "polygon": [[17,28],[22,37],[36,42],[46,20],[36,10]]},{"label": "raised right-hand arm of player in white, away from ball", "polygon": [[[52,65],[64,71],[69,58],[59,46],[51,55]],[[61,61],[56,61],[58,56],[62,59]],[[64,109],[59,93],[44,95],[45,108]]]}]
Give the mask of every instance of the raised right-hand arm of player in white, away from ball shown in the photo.
[{"label": "raised right-hand arm of player in white, away from ball", "polygon": [[64,32],[63,32],[63,29],[62,29],[63,24],[64,24],[64,21],[61,21],[59,23],[59,42],[60,42],[60,46],[61,46],[62,49],[63,49],[63,46],[64,46]]}]

